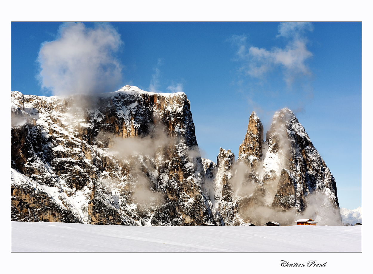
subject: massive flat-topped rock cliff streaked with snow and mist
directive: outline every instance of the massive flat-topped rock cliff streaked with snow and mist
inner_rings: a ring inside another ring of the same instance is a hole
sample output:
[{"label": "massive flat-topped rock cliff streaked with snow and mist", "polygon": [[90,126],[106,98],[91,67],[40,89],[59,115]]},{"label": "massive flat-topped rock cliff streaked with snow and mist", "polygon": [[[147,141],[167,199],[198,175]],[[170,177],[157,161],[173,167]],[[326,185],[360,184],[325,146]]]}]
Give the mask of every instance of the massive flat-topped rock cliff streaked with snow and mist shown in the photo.
[{"label": "massive flat-topped rock cliff streaked with snow and mist", "polygon": [[[22,184],[12,180],[12,220],[36,221],[25,212],[45,204],[34,199],[42,193],[53,207],[43,207],[40,221],[135,226],[212,221],[184,93],[156,94],[135,86],[90,96],[12,92],[11,132],[13,173],[23,174]],[[61,217],[64,212],[72,217]]]}]

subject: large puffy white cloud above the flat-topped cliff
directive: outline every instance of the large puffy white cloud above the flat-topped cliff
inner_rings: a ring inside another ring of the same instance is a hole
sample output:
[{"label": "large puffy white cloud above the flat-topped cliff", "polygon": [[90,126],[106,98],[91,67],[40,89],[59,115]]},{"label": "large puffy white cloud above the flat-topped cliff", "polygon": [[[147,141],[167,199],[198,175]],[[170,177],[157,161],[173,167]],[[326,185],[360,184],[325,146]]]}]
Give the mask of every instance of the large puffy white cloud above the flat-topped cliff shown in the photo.
[{"label": "large puffy white cloud above the flat-topped cliff", "polygon": [[94,29],[83,23],[65,23],[59,37],[44,42],[39,52],[38,78],[53,94],[113,91],[121,80],[121,64],[113,53],[123,42],[109,24]]}]

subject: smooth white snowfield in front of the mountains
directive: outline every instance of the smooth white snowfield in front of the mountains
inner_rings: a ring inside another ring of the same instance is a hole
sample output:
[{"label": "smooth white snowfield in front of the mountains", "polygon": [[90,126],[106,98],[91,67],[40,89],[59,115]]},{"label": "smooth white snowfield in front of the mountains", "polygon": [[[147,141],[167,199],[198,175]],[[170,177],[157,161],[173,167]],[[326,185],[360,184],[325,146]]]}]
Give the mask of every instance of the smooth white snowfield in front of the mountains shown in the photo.
[{"label": "smooth white snowfield in front of the mountains", "polygon": [[12,252],[361,252],[362,226],[134,227],[12,222]]}]

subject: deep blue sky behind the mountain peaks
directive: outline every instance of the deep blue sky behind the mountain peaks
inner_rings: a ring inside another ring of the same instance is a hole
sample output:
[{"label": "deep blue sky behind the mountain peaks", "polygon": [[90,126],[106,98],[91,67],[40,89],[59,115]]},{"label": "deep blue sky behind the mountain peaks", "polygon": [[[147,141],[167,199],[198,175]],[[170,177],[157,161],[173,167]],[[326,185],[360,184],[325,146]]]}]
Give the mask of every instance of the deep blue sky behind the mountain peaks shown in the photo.
[{"label": "deep blue sky behind the mountain peaks", "polygon": [[[77,26],[64,25],[59,32],[61,25],[11,24],[12,91],[66,92],[48,90],[46,82],[43,89],[37,79],[43,42],[60,40],[63,31]],[[340,207],[353,209],[361,206],[361,26],[84,23],[83,27],[104,28],[115,38],[102,45],[109,48],[105,62],[117,65],[112,68],[116,78],[101,85],[102,91],[129,84],[147,91],[186,93],[203,157],[216,161],[220,147],[237,157],[253,110],[266,132],[275,111],[290,108],[335,177]]]}]

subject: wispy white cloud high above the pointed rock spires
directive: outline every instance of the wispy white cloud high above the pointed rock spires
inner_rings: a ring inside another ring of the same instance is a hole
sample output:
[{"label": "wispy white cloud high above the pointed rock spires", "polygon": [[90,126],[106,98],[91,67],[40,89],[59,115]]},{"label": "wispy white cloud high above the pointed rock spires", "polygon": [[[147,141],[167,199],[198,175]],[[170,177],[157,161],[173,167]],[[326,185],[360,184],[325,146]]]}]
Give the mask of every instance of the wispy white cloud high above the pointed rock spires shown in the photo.
[{"label": "wispy white cloud high above the pointed rock spires", "polygon": [[285,48],[273,47],[271,50],[248,47],[245,35],[234,35],[232,42],[238,47],[236,54],[244,61],[240,70],[252,77],[264,78],[267,72],[280,67],[287,85],[297,77],[310,76],[312,73],[306,60],[313,54],[307,49],[305,32],[312,30],[311,23],[280,23],[276,37],[282,37],[288,43]]}]

